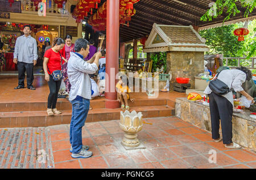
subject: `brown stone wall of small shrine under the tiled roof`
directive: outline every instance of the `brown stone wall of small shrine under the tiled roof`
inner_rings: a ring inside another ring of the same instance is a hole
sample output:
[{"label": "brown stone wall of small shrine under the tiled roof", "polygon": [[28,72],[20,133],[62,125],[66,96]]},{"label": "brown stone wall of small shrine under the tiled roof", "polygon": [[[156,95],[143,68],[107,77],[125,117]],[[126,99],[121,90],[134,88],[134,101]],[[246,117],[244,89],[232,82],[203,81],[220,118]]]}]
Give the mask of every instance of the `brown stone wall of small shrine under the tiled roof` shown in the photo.
[{"label": "brown stone wall of small shrine under the tiled roof", "polygon": [[167,52],[167,73],[172,71],[170,90],[176,78],[190,78],[195,89],[195,76],[204,72],[204,52]]}]

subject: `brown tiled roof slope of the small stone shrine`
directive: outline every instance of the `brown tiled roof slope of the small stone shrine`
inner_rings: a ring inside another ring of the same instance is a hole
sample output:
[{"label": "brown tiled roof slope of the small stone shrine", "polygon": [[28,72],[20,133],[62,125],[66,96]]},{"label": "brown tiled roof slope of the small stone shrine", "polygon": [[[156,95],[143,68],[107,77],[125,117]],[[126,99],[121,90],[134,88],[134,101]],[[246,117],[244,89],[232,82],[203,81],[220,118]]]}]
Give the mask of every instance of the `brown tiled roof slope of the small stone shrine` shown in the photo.
[{"label": "brown tiled roof slope of the small stone shrine", "polygon": [[203,43],[189,27],[160,26],[160,28],[171,38],[172,43]]}]

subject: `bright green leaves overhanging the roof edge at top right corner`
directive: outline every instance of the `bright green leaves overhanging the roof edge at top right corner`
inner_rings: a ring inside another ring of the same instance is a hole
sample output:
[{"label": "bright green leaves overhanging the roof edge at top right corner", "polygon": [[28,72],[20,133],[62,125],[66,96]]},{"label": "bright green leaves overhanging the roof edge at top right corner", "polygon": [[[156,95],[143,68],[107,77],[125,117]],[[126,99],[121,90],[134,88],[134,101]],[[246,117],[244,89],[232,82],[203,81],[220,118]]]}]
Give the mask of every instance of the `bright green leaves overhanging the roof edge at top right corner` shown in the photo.
[{"label": "bright green leaves overhanging the roof edge at top right corner", "polygon": [[207,12],[201,17],[200,20],[203,22],[211,21],[212,18],[217,18],[218,16],[222,15],[224,10],[226,9],[226,17],[223,22],[230,19],[230,16],[236,16],[236,14],[240,13],[241,11],[238,10],[236,3],[240,2],[242,7],[246,8],[244,17],[247,18],[248,14],[253,11],[254,7],[256,6],[255,0],[217,0]]}]

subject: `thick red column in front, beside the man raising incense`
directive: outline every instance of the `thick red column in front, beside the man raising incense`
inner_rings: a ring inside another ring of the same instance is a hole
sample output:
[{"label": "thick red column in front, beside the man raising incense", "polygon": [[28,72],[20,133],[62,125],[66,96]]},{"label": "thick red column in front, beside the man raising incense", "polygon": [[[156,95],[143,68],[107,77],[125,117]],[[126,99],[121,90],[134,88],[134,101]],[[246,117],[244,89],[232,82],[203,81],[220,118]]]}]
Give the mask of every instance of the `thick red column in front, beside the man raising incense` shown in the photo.
[{"label": "thick red column in front, beside the man raising incense", "polygon": [[107,1],[106,20],[106,84],[105,107],[119,108],[117,92],[115,91],[115,75],[118,73],[119,56],[119,0]]}]

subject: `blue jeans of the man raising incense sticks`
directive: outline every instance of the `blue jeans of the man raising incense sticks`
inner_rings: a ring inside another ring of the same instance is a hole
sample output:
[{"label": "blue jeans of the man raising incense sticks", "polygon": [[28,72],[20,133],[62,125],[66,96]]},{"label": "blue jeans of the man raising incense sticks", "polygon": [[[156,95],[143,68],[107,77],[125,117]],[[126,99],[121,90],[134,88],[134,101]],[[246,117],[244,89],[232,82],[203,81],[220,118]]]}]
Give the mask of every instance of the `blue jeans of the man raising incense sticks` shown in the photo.
[{"label": "blue jeans of the man raising incense sticks", "polygon": [[82,100],[73,100],[72,117],[70,123],[70,143],[72,145],[72,153],[79,153],[82,149],[82,126],[84,126],[87,117],[90,100],[82,98]]}]

